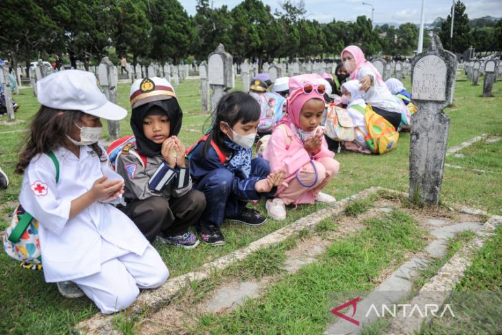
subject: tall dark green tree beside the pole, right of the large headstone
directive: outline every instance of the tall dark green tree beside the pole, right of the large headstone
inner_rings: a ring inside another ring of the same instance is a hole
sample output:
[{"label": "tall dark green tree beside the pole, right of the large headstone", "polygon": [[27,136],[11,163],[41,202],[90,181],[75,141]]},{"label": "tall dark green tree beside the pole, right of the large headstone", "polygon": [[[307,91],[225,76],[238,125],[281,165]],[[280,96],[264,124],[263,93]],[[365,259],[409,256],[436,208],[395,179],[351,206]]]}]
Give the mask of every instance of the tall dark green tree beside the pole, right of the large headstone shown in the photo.
[{"label": "tall dark green tree beside the pole, right of the large headstone", "polygon": [[[450,9],[451,13],[451,9]],[[441,23],[439,38],[445,49],[452,52],[462,53],[470,45],[469,40],[469,18],[466,13],[466,5],[461,1],[455,3],[455,19],[453,20],[453,39],[450,39],[451,14]]]}]

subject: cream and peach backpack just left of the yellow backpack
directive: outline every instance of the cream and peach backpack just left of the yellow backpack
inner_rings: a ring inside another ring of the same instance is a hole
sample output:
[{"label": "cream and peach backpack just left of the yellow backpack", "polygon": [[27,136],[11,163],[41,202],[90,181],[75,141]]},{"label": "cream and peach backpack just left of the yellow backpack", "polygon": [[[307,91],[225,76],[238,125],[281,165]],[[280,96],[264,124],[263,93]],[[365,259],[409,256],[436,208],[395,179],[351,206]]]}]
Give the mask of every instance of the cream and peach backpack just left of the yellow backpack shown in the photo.
[{"label": "cream and peach backpack just left of the yellow backpack", "polygon": [[354,123],[347,109],[330,104],[326,116],[324,132],[331,140],[351,142],[356,138]]}]

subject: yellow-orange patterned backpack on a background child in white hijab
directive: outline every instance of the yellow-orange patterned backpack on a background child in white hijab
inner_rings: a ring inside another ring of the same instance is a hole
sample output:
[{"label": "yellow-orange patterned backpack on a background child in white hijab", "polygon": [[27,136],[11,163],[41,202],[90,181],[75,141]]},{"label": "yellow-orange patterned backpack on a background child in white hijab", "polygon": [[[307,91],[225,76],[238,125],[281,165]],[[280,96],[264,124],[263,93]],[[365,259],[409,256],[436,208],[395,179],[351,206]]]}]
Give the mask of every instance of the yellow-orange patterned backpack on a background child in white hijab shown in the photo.
[{"label": "yellow-orange patterned backpack on a background child in white hijab", "polygon": [[[352,107],[364,114],[368,131],[368,135],[364,136],[364,140],[368,144],[369,150],[372,153],[380,155],[392,151],[399,140],[399,133],[391,125],[391,122],[387,121],[383,116],[376,114],[371,105],[367,105],[366,109],[358,105],[353,105]],[[356,127],[356,129],[362,133],[359,127]]]}]

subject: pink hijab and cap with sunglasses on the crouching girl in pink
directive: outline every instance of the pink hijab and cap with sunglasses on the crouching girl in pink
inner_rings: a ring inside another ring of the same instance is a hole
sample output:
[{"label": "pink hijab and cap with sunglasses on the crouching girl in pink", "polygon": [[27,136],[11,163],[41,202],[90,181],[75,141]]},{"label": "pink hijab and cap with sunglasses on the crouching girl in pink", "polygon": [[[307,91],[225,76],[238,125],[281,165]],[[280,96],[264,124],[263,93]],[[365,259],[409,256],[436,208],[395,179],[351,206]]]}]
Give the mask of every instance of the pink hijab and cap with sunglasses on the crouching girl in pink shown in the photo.
[{"label": "pink hijab and cap with sunglasses on the crouching girl in pink", "polygon": [[[302,74],[290,78],[290,95],[287,97],[286,115],[277,122],[276,127],[282,124],[290,126],[290,124],[293,123],[297,129],[301,129],[300,112],[305,102],[314,98],[325,102],[324,94],[318,94],[317,92],[317,87],[320,85],[320,78],[321,76],[318,74]],[[305,94],[303,92],[303,86],[308,84],[312,84],[314,89],[312,93]]]}]

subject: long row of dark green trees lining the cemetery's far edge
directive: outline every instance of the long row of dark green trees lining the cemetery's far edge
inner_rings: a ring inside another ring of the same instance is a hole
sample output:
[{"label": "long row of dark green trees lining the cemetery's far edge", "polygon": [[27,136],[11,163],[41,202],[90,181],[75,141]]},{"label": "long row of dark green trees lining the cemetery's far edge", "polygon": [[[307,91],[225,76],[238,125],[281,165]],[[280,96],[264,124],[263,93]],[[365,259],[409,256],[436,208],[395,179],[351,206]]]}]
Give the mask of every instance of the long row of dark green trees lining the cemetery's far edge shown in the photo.
[{"label": "long row of dark green trees lining the cemetery's far edge", "polygon": [[[304,0],[279,4],[272,13],[261,0],[242,0],[232,10],[197,0],[197,13],[190,17],[179,0],[4,0],[0,56],[28,64],[72,52],[87,65],[114,48],[119,56],[146,64],[204,60],[219,43],[236,61],[339,58],[347,45],[358,45],[367,58],[411,56],[417,47],[414,23],[373,28],[365,16],[320,23],[307,19]],[[436,21],[441,41],[450,49],[451,16]],[[470,45],[478,51],[502,50],[501,37],[502,20],[470,22],[466,6],[455,3],[452,51],[463,52]]]}]

